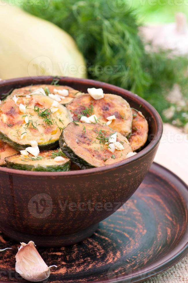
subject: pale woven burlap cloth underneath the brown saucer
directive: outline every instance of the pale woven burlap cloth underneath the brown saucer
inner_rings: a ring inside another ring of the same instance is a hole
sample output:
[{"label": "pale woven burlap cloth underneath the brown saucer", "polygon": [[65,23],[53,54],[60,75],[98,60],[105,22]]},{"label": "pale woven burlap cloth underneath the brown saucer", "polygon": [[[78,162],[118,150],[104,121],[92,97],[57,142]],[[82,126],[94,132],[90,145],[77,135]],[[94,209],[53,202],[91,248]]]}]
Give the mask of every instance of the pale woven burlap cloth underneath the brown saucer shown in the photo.
[{"label": "pale woven burlap cloth underneath the brown saucer", "polygon": [[[177,134],[182,141],[177,142]],[[180,129],[164,124],[163,138],[155,161],[167,167],[188,184],[188,139]],[[167,271],[144,283],[188,283],[188,255]]]}]

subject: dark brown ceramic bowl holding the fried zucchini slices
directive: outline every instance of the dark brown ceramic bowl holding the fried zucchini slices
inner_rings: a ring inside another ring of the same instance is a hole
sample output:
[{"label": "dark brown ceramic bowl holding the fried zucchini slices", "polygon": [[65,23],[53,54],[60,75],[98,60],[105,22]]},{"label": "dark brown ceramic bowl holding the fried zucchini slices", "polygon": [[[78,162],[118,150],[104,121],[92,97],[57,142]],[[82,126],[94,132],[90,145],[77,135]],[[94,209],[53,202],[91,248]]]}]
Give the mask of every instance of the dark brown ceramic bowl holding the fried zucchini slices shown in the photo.
[{"label": "dark brown ceramic bowl holding the fried zucchini slices", "polygon": [[[50,84],[52,77],[18,78],[0,82],[0,97],[11,89]],[[150,168],[163,124],[157,111],[144,99],[120,87],[62,77],[59,84],[87,92],[88,87],[125,98],[140,109],[149,124],[148,143],[135,156],[99,168],[70,172],[31,172],[0,167],[0,230],[18,242],[39,246],[77,243],[98,223],[122,206],[142,183]]]}]

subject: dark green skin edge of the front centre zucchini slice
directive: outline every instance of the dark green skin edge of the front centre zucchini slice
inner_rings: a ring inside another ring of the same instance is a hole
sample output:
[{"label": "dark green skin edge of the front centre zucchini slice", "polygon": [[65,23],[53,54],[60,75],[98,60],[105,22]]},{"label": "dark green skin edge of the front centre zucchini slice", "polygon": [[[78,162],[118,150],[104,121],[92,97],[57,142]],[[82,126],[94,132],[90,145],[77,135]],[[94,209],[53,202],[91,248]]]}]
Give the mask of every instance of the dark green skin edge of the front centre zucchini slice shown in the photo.
[{"label": "dark green skin edge of the front centre zucchini slice", "polygon": [[75,152],[69,147],[67,146],[63,146],[63,144],[66,144],[65,140],[64,140],[64,136],[63,136],[63,131],[61,133],[61,136],[59,138],[59,146],[62,150],[62,152],[76,165],[78,165],[81,169],[90,169],[90,168],[95,168],[96,166],[93,166],[91,164],[89,164],[87,161],[85,161],[84,159],[82,159],[81,157],[79,157],[77,154],[75,154]]}]

